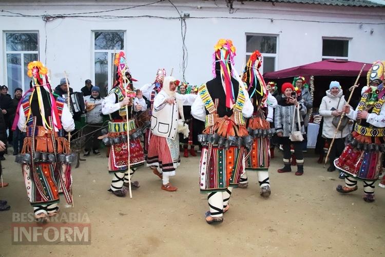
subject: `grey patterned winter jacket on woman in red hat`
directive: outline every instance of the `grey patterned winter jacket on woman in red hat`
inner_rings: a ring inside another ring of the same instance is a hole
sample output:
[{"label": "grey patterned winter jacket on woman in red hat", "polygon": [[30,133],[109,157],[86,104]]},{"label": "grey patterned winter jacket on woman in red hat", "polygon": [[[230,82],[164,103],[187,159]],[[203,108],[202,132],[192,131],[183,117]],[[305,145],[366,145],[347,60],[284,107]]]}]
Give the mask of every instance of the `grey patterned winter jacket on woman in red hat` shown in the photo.
[{"label": "grey patterned winter jacket on woman in red hat", "polygon": [[[286,98],[282,95],[281,99],[278,101],[278,105],[275,108],[274,114],[274,125],[276,132],[282,132],[283,137],[289,137],[292,134],[292,122],[293,115],[294,117],[294,130],[298,131],[298,118],[297,118],[297,110],[294,112],[294,104],[286,103]],[[305,134],[305,128],[303,125],[302,116],[306,114],[306,106],[303,104],[303,99],[298,102],[299,107],[299,119],[301,123],[301,134]]]}]

